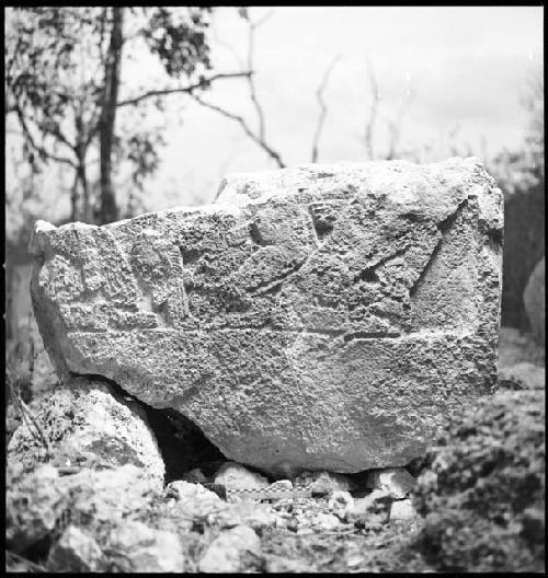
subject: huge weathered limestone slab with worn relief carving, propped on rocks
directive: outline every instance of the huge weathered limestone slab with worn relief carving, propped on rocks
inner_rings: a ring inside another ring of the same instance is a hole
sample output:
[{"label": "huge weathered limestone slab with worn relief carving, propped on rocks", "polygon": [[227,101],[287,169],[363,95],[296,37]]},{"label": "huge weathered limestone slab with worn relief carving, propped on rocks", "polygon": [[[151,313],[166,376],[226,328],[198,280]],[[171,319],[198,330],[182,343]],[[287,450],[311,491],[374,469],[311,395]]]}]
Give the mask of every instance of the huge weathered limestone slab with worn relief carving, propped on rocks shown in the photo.
[{"label": "huge weathered limestone slab with worn relief carving, propped on rocks", "polygon": [[496,374],[502,195],[475,159],[226,178],[214,205],[41,221],[35,314],[102,374],[273,473],[420,455]]}]

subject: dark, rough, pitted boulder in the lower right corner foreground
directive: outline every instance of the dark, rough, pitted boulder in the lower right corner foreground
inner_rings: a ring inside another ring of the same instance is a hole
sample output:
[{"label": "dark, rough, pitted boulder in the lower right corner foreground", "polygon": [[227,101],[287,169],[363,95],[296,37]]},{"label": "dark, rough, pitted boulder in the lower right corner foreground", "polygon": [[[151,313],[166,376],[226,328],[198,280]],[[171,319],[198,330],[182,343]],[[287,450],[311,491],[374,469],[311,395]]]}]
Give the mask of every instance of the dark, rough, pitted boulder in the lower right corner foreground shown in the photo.
[{"label": "dark, rough, pitted boulder in the lower right corner foreground", "polygon": [[544,528],[526,527],[545,510],[545,402],[544,390],[500,391],[444,428],[413,496],[433,571],[544,571]]}]

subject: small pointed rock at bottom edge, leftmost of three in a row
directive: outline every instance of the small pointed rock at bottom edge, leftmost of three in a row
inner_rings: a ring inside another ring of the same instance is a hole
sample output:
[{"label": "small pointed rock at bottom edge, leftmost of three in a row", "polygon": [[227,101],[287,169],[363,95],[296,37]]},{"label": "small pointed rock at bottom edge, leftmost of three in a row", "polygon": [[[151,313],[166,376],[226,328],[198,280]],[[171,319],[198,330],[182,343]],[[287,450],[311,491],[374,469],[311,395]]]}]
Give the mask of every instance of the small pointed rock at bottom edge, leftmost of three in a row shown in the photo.
[{"label": "small pointed rock at bottom edge, leftmost of three in a row", "polygon": [[69,525],[48,555],[54,571],[99,571],[102,552],[99,544],[76,525]]}]

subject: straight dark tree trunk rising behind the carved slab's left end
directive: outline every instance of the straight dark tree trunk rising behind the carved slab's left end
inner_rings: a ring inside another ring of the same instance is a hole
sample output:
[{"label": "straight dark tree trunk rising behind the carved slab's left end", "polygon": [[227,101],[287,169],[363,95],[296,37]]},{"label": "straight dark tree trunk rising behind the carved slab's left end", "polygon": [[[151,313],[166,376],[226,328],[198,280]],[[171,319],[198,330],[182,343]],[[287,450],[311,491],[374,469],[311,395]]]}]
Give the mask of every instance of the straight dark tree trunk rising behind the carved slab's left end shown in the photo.
[{"label": "straight dark tree trunk rising behind the carved slab's left end", "polygon": [[117,220],[116,196],[112,186],[112,148],[118,100],[119,68],[122,59],[122,35],[124,8],[112,8],[111,42],[105,62],[105,85],[100,120],[101,199],[99,224]]}]

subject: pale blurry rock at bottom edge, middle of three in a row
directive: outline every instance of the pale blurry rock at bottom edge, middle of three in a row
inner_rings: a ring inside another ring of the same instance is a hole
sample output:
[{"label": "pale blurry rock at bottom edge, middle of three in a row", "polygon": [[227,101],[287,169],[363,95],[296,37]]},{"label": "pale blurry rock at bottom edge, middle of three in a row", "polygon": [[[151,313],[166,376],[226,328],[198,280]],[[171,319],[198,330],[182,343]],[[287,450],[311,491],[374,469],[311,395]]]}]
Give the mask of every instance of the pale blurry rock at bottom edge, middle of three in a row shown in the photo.
[{"label": "pale blurry rock at bottom edge, middle of three in a row", "polygon": [[182,573],[184,555],[172,532],[148,528],[142,522],[124,520],[111,530],[110,557],[121,571]]}]

